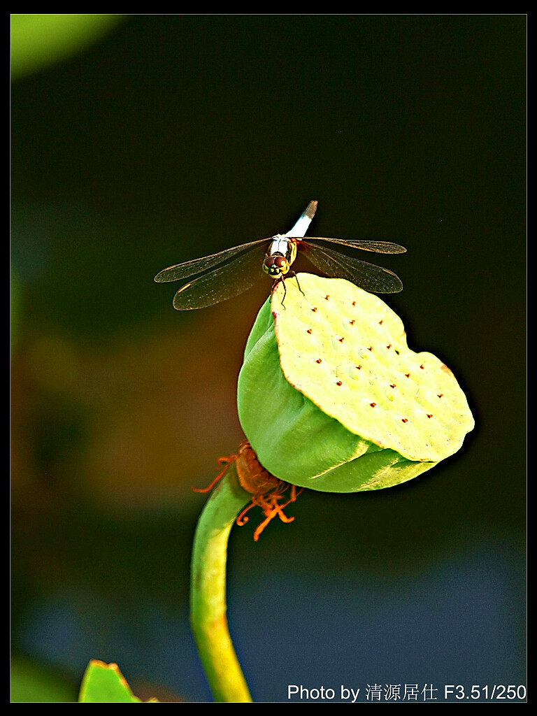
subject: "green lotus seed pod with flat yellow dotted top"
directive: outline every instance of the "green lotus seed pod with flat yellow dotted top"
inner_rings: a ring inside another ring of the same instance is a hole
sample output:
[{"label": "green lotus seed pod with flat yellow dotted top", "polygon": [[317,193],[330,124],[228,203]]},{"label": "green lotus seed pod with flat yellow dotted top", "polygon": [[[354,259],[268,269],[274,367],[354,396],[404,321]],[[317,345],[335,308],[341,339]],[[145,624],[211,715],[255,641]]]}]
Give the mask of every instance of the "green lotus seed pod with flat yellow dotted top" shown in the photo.
[{"label": "green lotus seed pod with flat yellow dotted top", "polygon": [[382,299],[311,274],[279,284],[259,311],[238,414],[269,473],[326,492],[415,478],[456,453],[474,426],[453,373],[407,347]]}]

